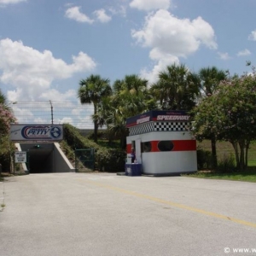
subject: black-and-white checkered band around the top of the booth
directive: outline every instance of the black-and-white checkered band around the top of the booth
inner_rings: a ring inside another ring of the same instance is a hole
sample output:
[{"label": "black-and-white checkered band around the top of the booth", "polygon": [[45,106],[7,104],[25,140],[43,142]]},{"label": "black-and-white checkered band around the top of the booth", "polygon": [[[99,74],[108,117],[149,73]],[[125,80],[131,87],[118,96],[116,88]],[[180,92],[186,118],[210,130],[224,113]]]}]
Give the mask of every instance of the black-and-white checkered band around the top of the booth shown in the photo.
[{"label": "black-and-white checkered band around the top of the booth", "polygon": [[129,135],[143,134],[151,131],[189,131],[190,122],[150,122],[129,128]]}]

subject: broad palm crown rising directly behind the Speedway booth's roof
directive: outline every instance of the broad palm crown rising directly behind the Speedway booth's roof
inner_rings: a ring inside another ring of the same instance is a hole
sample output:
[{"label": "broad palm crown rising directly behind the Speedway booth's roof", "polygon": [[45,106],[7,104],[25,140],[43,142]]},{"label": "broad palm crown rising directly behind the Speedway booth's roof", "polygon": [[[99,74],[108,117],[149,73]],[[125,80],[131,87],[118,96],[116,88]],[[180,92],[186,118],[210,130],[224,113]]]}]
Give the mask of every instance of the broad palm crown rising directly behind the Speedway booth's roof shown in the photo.
[{"label": "broad palm crown rising directly behind the Speedway booth's roof", "polygon": [[167,66],[150,92],[164,110],[190,110],[199,94],[199,78],[184,65]]}]

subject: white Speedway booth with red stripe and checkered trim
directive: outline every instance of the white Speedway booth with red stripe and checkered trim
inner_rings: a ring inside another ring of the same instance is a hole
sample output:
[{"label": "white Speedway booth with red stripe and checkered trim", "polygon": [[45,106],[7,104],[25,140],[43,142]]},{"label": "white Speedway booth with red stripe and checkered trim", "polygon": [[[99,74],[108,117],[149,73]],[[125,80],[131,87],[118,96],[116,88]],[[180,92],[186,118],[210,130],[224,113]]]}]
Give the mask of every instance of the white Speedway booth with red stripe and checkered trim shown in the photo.
[{"label": "white Speedway booth with red stripe and checkered trim", "polygon": [[[131,170],[131,148],[143,174],[167,176],[196,172],[196,141],[184,111],[149,111],[126,120],[126,167]],[[127,169],[127,168],[126,168]]]}]

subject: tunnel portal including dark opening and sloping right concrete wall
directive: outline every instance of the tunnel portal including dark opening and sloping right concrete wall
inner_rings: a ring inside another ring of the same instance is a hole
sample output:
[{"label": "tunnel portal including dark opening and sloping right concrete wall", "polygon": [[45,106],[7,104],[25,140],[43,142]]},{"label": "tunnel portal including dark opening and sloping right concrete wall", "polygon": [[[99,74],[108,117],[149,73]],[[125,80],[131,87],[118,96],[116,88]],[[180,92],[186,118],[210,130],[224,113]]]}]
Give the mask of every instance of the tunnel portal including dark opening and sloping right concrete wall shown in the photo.
[{"label": "tunnel portal including dark opening and sloping right concrete wall", "polygon": [[19,151],[29,152],[29,165],[26,164],[26,169],[29,169],[30,173],[75,171],[61,151],[59,143],[20,143],[16,148]]}]

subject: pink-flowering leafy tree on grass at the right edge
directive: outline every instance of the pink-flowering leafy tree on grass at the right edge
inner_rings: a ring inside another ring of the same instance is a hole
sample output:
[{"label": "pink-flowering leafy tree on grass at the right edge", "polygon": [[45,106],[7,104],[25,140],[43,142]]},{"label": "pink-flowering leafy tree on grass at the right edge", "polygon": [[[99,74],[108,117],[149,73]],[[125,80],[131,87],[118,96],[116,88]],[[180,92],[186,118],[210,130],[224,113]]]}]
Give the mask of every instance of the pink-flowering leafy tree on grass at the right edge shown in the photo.
[{"label": "pink-flowering leafy tree on grass at the right edge", "polygon": [[230,142],[236,154],[236,167],[247,168],[247,151],[256,139],[256,75],[227,79],[212,96],[193,110],[195,136],[203,139],[213,134],[217,140]]}]

